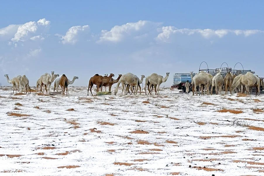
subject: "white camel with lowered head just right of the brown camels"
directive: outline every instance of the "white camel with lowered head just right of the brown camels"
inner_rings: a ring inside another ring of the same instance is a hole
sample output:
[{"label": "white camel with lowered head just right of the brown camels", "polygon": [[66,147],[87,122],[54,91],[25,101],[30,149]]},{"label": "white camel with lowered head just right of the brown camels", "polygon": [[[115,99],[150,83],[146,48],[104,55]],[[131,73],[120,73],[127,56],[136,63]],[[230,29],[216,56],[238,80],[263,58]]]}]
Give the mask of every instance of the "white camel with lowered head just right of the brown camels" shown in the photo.
[{"label": "white camel with lowered head just right of the brown camels", "polygon": [[127,73],[125,75],[122,75],[120,77],[120,79],[118,80],[117,86],[115,87],[115,95],[117,94],[119,84],[121,84],[121,83],[122,83],[122,94],[123,94],[123,91],[125,89],[126,84],[130,84],[131,87],[133,86],[133,84],[135,84],[136,85],[135,89],[136,89],[136,94],[137,94],[137,90],[138,90],[138,86],[139,86],[139,80],[138,80],[138,77],[136,75],[134,75],[132,73]]}]

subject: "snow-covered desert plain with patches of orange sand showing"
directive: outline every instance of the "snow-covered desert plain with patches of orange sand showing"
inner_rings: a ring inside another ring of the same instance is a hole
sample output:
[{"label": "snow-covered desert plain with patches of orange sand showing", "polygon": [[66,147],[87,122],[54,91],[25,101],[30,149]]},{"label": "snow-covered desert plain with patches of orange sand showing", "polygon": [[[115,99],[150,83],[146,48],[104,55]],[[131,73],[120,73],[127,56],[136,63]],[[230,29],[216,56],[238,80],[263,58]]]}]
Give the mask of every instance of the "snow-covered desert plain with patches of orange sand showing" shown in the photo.
[{"label": "snow-covered desert plain with patches of orange sand showing", "polygon": [[264,175],[264,96],[170,92],[1,87],[0,175]]}]

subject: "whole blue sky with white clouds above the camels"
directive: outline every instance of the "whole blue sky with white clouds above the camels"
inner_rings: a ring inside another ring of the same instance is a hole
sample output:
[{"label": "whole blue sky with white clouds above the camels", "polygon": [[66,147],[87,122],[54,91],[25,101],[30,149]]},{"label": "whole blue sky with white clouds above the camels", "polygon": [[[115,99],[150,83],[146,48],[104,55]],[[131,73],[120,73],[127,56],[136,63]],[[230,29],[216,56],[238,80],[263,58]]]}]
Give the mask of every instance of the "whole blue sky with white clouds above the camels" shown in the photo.
[{"label": "whole blue sky with white clouds above the camels", "polygon": [[[264,76],[263,1],[6,1],[0,82],[55,71],[86,86],[94,74],[197,72],[241,62]],[[205,68],[205,65],[202,65]],[[241,68],[237,65],[237,69]]]}]

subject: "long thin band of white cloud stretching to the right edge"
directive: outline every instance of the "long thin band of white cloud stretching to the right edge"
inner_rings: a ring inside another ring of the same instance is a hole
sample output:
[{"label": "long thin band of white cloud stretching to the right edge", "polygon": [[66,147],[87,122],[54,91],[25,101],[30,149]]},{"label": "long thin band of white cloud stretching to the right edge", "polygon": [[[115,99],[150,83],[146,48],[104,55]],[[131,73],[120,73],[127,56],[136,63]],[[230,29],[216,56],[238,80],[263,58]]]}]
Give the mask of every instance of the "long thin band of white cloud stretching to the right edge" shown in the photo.
[{"label": "long thin band of white cloud stretching to the right edge", "polygon": [[161,33],[158,34],[156,37],[157,40],[168,42],[168,39],[176,33],[180,34],[200,34],[204,38],[210,38],[210,37],[224,37],[227,34],[236,34],[241,35],[244,34],[245,37],[248,37],[249,35],[257,34],[257,33],[264,33],[264,31],[261,30],[230,30],[230,29],[220,29],[220,30],[213,30],[213,29],[178,29],[174,26],[163,26],[161,28]]}]

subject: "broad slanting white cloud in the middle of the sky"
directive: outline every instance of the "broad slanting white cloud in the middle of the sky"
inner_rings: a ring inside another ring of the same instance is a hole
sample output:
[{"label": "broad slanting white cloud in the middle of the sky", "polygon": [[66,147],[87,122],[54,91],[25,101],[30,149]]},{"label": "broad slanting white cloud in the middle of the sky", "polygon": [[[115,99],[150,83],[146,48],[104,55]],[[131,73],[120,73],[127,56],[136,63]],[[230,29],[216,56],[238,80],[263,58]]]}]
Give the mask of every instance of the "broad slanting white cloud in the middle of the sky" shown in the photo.
[{"label": "broad slanting white cloud in the middle of the sky", "polygon": [[154,23],[151,21],[139,20],[136,23],[126,23],[121,26],[114,26],[110,31],[102,30],[101,37],[98,42],[120,42],[123,38],[131,36],[139,38],[139,36],[147,36],[147,33],[155,29],[160,23]]}]

